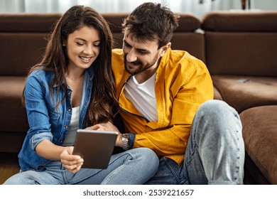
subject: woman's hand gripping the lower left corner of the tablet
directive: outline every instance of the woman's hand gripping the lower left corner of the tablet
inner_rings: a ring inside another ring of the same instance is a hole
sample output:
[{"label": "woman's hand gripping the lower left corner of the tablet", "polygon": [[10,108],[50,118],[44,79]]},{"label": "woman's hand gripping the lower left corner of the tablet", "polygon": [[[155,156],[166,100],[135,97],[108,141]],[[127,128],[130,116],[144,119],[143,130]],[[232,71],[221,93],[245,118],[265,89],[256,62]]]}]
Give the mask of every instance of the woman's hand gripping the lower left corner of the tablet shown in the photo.
[{"label": "woman's hand gripping the lower left corner of the tablet", "polygon": [[82,163],[84,159],[77,155],[72,155],[74,146],[67,146],[60,154],[60,161],[63,163],[63,167],[65,167],[68,171],[72,173],[76,173],[82,167]]}]

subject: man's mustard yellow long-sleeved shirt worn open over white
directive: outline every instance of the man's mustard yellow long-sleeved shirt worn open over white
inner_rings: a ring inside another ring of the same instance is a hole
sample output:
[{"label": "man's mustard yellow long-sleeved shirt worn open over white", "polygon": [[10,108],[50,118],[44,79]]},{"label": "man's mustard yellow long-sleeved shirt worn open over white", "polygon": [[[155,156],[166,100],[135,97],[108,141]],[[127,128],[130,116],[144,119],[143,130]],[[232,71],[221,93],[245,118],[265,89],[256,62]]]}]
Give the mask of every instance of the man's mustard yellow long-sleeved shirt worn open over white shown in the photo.
[{"label": "man's mustard yellow long-sleeved shirt worn open over white", "polygon": [[212,79],[201,60],[182,50],[169,49],[158,66],[155,93],[158,121],[148,122],[124,96],[130,74],[121,49],[112,53],[112,70],[126,130],[136,134],[134,148],[148,147],[158,156],[184,160],[192,119],[203,102],[213,99]]}]

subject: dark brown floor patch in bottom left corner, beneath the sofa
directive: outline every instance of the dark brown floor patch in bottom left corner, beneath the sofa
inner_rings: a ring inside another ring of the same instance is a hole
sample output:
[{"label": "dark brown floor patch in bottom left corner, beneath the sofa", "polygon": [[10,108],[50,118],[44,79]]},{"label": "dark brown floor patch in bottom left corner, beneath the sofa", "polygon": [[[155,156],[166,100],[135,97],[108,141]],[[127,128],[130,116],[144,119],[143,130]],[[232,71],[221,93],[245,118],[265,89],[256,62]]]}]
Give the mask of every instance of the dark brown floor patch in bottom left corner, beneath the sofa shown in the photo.
[{"label": "dark brown floor patch in bottom left corner, beneath the sofa", "polygon": [[19,172],[17,155],[16,153],[0,153],[0,184]]}]

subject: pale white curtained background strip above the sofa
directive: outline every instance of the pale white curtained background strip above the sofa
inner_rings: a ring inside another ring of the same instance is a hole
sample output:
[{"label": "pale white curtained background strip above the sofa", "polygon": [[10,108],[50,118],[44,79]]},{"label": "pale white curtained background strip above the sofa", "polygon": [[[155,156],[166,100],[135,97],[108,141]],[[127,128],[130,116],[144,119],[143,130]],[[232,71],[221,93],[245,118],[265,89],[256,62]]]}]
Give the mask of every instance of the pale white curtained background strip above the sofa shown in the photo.
[{"label": "pale white curtained background strip above the sofa", "polygon": [[[147,0],[146,0],[147,1]],[[65,12],[76,4],[92,6],[99,12],[132,11],[143,0],[0,0],[0,13]],[[148,0],[151,1],[151,0]],[[241,9],[241,0],[154,0],[174,12],[188,12],[202,16],[211,10]],[[277,0],[251,0],[252,9],[277,10]]]}]

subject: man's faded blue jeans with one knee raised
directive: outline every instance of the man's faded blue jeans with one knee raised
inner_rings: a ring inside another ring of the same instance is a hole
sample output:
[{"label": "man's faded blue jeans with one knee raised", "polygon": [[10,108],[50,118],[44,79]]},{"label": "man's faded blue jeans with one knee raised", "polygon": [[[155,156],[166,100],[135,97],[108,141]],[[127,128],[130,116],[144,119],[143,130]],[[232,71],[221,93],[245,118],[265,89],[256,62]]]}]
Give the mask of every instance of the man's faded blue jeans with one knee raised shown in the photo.
[{"label": "man's faded blue jeans with one knee raised", "polygon": [[161,158],[158,172],[146,184],[242,184],[244,141],[235,109],[210,100],[195,114],[185,161],[178,166]]}]

